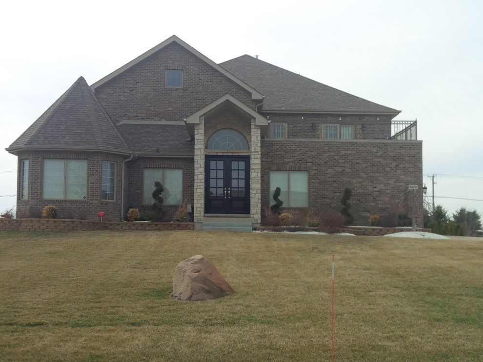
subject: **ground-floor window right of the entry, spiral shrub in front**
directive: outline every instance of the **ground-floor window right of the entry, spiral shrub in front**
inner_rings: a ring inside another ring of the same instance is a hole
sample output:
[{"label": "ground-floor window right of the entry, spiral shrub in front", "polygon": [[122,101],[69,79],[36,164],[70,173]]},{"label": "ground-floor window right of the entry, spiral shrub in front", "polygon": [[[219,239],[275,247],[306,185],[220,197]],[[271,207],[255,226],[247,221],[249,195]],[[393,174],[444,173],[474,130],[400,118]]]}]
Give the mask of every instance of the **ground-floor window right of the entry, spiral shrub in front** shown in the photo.
[{"label": "ground-floor window right of the entry, spiral shrub in front", "polygon": [[277,187],[284,207],[308,206],[308,171],[270,171],[270,205]]}]

